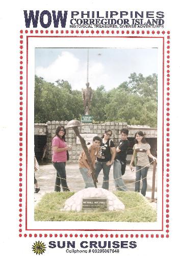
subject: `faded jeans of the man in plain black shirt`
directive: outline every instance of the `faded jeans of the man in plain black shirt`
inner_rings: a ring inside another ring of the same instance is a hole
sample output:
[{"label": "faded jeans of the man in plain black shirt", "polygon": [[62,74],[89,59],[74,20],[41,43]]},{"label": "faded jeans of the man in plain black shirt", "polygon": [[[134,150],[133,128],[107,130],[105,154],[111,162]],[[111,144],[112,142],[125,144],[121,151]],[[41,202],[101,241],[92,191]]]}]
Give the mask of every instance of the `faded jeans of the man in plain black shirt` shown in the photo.
[{"label": "faded jeans of the man in plain black shirt", "polygon": [[121,174],[121,163],[119,160],[114,160],[113,165],[113,178],[116,190],[127,191],[127,188],[123,182],[122,174]]}]

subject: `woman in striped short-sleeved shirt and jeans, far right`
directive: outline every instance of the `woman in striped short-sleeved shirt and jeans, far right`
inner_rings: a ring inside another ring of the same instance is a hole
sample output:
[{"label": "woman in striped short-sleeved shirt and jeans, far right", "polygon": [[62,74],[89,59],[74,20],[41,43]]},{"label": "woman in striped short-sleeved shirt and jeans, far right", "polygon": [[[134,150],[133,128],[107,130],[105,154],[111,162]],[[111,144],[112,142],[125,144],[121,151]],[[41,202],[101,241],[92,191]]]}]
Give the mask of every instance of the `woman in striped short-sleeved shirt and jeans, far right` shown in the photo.
[{"label": "woman in striped short-sleeved shirt and jeans, far right", "polygon": [[[156,161],[157,158],[151,155],[150,145],[146,142],[143,132],[141,131],[136,132],[135,142],[136,144],[133,147],[134,153],[136,153],[136,156],[137,156],[135,191],[140,192],[140,180],[142,179],[141,194],[145,196],[146,189],[147,189],[147,171],[150,166],[148,157],[152,158],[153,161]],[[131,163],[130,163],[131,170],[134,170],[132,165],[134,160],[135,160],[135,154],[133,154],[133,157],[131,159]]]}]

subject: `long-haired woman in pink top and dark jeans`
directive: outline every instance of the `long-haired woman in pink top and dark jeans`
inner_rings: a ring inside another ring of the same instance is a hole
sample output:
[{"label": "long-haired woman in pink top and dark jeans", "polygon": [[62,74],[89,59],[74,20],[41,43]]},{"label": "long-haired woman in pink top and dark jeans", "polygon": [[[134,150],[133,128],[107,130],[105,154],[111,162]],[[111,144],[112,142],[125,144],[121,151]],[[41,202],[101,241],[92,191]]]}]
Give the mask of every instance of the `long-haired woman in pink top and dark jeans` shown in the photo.
[{"label": "long-haired woman in pink top and dark jeans", "polygon": [[58,126],[56,129],[56,136],[52,140],[53,148],[53,165],[57,170],[55,191],[60,192],[61,187],[63,191],[70,191],[66,182],[66,161],[67,161],[67,150],[71,149],[70,145],[65,143],[66,130],[63,126]]}]

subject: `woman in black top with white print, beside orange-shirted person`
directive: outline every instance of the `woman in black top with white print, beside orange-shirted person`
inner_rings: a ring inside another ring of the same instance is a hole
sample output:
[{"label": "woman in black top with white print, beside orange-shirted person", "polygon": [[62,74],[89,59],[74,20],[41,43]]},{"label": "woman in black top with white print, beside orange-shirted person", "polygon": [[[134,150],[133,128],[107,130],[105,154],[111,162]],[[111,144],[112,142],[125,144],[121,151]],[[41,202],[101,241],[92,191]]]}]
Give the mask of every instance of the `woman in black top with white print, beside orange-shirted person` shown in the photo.
[{"label": "woman in black top with white print, beside orange-shirted person", "polygon": [[109,189],[109,172],[111,165],[116,156],[116,148],[114,142],[110,140],[112,135],[111,130],[106,130],[102,135],[102,141],[99,146],[99,152],[96,161],[96,177],[98,177],[101,169],[103,170],[103,183],[102,188]]}]

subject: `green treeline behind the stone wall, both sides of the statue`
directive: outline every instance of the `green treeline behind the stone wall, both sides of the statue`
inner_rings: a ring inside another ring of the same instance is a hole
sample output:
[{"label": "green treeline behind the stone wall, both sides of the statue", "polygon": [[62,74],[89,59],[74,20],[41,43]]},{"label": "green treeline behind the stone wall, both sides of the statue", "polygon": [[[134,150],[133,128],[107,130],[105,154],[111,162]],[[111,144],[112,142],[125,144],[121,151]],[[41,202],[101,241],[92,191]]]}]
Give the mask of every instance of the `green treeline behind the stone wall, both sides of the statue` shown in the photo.
[{"label": "green treeline behind the stone wall, both sides of the statue", "polygon": [[[132,73],[128,81],[106,91],[93,90],[90,114],[94,122],[124,121],[128,124],[157,126],[157,74],[143,77]],[[46,82],[35,76],[35,122],[80,119],[84,113],[82,94],[68,81]]]}]

